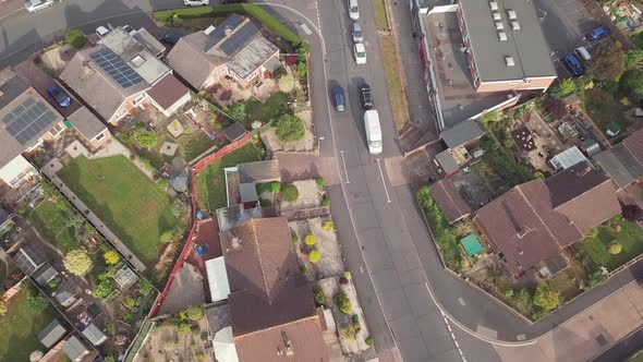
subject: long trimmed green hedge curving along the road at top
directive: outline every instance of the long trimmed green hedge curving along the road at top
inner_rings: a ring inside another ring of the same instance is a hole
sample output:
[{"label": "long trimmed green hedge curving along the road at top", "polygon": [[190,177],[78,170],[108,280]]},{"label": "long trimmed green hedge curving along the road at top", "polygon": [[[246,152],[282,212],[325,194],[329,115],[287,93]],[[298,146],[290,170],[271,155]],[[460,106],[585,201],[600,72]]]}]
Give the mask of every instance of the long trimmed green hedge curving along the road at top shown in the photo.
[{"label": "long trimmed green hedge curving along the road at top", "polygon": [[179,17],[181,19],[191,19],[227,16],[232,13],[247,15],[256,19],[265,27],[269,28],[275,34],[292,44],[292,46],[295,48],[302,44],[302,39],[296,34],[294,34],[288,27],[281,24],[275,16],[270,15],[267,11],[262,9],[262,7],[252,3],[234,3],[215,7],[156,11],[154,12],[154,19],[159,22],[165,22],[168,19],[172,17],[172,15],[174,14],[179,15]]}]

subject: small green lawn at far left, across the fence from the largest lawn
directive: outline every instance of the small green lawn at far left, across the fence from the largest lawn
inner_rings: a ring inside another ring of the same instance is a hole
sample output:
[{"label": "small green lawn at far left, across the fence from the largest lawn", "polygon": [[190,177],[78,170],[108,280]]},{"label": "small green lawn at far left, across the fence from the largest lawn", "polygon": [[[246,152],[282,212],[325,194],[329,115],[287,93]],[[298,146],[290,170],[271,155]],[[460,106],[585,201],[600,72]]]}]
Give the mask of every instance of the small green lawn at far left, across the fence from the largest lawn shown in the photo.
[{"label": "small green lawn at far left, across the fence from the largest lawn", "polygon": [[56,203],[44,201],[32,210],[29,221],[43,238],[66,254],[80,246],[74,237],[74,228],[66,225],[70,213],[58,207]]}]

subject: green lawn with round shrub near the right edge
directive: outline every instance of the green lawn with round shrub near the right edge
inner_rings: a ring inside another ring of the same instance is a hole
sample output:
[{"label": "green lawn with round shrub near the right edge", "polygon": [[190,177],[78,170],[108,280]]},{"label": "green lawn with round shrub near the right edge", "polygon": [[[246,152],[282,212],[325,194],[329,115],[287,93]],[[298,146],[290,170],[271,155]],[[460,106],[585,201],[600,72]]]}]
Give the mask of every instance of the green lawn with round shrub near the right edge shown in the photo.
[{"label": "green lawn with round shrub near the right edge", "polygon": [[[620,227],[619,232],[617,232],[618,227]],[[608,252],[612,241],[623,246],[618,255],[611,255]],[[596,237],[586,238],[577,248],[581,251],[585,262],[596,266],[605,266],[607,270],[611,272],[643,253],[643,230],[636,224],[626,221],[617,216],[611,222],[598,227]]]}]

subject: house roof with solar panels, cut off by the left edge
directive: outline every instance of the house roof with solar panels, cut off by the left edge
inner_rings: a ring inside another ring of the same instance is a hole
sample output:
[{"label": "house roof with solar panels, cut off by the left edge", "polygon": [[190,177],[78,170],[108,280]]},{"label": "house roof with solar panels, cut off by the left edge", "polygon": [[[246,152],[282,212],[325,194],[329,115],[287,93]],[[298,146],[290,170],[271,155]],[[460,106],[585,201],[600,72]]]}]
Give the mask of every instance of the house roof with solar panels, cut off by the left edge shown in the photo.
[{"label": "house roof with solar panels, cut off by the left edge", "polygon": [[10,68],[0,71],[0,167],[62,122],[62,116]]}]

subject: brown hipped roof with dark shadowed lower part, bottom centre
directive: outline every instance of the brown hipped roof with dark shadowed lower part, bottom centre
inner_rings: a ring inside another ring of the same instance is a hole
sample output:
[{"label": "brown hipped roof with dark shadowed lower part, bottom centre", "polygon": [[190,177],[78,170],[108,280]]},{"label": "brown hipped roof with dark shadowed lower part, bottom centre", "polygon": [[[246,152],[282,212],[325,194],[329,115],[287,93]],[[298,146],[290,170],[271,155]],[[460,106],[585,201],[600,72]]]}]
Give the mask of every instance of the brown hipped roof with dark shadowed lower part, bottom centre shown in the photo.
[{"label": "brown hipped roof with dark shadowed lower part, bottom centre", "polygon": [[220,240],[235,336],[315,314],[286,218],[250,219],[222,231]]}]

